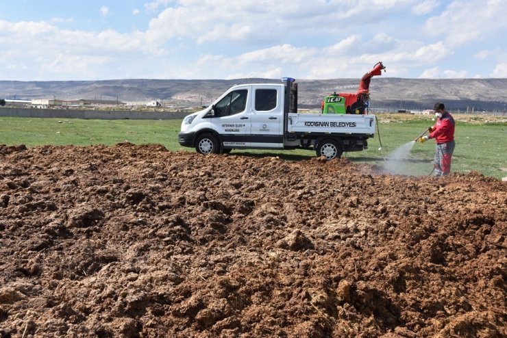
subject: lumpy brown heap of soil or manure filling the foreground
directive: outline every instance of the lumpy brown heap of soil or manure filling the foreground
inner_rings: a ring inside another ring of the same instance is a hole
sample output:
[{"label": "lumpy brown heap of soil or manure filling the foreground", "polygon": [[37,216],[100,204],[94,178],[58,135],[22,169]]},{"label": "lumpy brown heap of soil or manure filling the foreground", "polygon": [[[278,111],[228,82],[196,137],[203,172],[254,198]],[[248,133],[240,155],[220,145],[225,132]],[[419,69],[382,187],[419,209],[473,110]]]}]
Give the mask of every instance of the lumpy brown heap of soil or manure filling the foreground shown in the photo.
[{"label": "lumpy brown heap of soil or manure filling the foreground", "polygon": [[507,185],[0,146],[1,337],[506,337]]}]

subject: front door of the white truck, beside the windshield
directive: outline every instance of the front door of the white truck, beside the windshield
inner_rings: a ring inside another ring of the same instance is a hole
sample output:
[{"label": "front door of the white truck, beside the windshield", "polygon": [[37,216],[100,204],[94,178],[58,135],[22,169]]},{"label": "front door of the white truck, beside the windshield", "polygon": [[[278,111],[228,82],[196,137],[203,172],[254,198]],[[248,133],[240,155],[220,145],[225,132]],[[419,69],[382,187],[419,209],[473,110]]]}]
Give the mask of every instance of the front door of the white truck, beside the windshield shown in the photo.
[{"label": "front door of the white truck, beside the windshield", "polygon": [[214,105],[212,125],[221,135],[224,148],[250,146],[251,87],[232,90]]}]

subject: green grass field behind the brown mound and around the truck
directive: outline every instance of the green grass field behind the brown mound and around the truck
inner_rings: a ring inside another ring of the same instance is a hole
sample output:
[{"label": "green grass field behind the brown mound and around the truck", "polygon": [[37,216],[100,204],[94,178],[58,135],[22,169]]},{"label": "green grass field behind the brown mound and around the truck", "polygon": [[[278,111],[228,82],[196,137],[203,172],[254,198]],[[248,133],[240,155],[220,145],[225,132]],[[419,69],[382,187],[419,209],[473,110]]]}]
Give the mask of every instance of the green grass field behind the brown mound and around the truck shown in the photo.
[{"label": "green grass field behind the brown mound and around the truck", "polygon": [[[456,116],[455,116],[456,117]],[[366,151],[345,153],[344,157],[356,163],[383,166],[384,159],[398,146],[410,142],[433,124],[430,118],[382,122],[379,116],[379,133],[369,140]],[[158,143],[170,151],[194,151],[182,148],[177,142],[181,120],[80,120],[64,118],[12,118],[0,117],[0,144],[38,146],[43,144],[86,146],[90,144],[114,145],[125,140],[134,144]],[[485,176],[507,176],[507,124],[505,122],[456,124],[456,149],[452,171],[477,170]],[[380,141],[382,150],[379,151]],[[415,176],[430,174],[434,155],[434,141],[413,145],[410,155],[398,162],[399,174]],[[236,155],[278,156],[288,160],[309,159],[313,151],[232,151]]]}]

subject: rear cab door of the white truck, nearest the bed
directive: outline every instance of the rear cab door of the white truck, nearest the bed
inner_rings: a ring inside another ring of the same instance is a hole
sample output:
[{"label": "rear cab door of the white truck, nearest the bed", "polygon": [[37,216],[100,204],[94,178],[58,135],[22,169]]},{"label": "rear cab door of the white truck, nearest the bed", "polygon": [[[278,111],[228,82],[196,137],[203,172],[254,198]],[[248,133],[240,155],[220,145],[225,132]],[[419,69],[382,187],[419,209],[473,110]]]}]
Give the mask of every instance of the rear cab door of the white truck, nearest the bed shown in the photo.
[{"label": "rear cab door of the white truck, nearest the bed", "polygon": [[253,86],[251,146],[284,148],[282,87]]}]

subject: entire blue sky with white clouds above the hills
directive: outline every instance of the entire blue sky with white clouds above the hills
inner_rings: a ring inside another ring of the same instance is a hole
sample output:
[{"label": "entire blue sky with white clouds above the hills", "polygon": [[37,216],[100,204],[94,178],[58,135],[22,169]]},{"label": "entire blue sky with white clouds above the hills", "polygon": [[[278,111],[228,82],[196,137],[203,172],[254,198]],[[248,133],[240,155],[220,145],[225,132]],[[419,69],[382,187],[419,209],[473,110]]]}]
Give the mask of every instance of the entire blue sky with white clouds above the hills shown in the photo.
[{"label": "entire blue sky with white clouds above the hills", "polygon": [[507,77],[507,0],[0,0],[0,80]]}]

